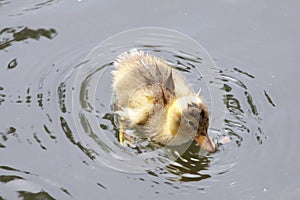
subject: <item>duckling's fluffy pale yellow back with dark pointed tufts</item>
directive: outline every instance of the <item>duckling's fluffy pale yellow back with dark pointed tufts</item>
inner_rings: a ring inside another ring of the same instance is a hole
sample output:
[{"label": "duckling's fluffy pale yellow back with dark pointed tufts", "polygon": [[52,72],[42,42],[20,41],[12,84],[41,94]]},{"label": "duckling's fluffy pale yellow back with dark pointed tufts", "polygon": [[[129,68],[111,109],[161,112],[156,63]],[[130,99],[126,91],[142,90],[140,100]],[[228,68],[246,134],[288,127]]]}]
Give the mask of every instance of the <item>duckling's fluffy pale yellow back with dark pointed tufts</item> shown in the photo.
[{"label": "duckling's fluffy pale yellow back with dark pointed tufts", "polygon": [[123,53],[114,65],[113,90],[121,108],[167,105],[174,97],[191,94],[184,78],[170,64],[143,51]]}]

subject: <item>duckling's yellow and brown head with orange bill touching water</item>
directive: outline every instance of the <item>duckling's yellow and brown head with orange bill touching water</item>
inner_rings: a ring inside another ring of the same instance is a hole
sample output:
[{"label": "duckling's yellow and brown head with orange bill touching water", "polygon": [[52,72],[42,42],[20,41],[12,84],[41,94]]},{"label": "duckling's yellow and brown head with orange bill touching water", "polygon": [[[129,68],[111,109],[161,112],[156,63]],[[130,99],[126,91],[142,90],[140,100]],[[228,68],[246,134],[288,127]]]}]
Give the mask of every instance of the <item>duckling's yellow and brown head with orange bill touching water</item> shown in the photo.
[{"label": "duckling's yellow and brown head with orange bill touching water", "polygon": [[209,114],[198,95],[176,98],[167,109],[168,131],[182,143],[195,139],[208,152],[215,151],[215,144],[208,136]]}]

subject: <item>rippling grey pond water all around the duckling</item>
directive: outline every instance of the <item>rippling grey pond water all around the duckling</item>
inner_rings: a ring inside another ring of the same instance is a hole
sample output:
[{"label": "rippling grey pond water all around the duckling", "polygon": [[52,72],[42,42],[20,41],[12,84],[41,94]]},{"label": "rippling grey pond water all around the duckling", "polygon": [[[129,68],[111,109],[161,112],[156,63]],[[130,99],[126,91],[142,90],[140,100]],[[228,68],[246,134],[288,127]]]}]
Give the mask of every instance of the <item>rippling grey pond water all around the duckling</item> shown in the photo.
[{"label": "rippling grey pond water all around the duckling", "polygon": [[[0,199],[298,199],[299,7],[0,0]],[[216,152],[119,144],[110,72],[133,48],[201,88]]]}]

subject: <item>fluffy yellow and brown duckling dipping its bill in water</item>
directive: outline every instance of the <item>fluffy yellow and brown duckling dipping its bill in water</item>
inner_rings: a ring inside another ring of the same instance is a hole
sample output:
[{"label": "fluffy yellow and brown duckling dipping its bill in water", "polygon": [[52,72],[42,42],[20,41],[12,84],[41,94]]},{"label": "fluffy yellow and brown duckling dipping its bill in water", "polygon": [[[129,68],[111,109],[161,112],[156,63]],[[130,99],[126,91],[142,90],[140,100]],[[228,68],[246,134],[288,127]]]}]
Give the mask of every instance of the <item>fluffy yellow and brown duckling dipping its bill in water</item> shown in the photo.
[{"label": "fluffy yellow and brown duckling dipping its bill in water", "polygon": [[208,152],[209,114],[199,93],[165,60],[136,49],[114,62],[112,88],[122,142],[133,129],[161,145],[181,145],[195,139]]}]

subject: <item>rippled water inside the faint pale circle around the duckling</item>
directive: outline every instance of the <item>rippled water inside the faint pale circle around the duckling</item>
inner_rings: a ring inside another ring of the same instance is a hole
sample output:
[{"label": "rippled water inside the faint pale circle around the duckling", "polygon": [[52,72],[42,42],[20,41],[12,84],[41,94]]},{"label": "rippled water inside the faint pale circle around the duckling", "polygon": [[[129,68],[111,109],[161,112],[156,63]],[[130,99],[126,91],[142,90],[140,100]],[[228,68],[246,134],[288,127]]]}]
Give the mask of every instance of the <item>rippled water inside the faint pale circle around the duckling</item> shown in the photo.
[{"label": "rippled water inside the faint pale circle around the duckling", "polygon": [[[211,133],[216,138],[225,118],[224,91],[214,62],[201,45],[179,32],[142,28],[122,32],[96,46],[80,66],[74,81],[72,113],[80,143],[92,149],[94,160],[126,172],[145,172],[178,160],[190,145],[156,148],[140,141],[130,148],[119,144],[111,89],[113,61],[131,49],[143,50],[166,59],[186,77],[208,103]],[[192,146],[195,144],[192,143]],[[198,147],[197,155],[202,157]],[[195,153],[195,152],[194,152]]]}]

